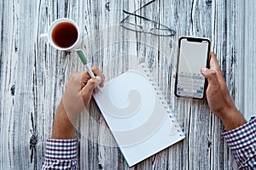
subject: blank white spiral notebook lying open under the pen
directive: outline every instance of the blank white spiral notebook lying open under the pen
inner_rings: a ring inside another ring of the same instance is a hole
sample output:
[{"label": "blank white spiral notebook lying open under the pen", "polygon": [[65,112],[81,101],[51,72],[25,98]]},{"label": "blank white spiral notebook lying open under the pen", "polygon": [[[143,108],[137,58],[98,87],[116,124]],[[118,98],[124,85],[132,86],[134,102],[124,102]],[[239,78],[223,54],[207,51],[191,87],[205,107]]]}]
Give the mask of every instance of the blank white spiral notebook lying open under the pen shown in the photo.
[{"label": "blank white spiral notebook lying open under the pen", "polygon": [[156,84],[142,63],[93,95],[129,167],[184,139]]}]

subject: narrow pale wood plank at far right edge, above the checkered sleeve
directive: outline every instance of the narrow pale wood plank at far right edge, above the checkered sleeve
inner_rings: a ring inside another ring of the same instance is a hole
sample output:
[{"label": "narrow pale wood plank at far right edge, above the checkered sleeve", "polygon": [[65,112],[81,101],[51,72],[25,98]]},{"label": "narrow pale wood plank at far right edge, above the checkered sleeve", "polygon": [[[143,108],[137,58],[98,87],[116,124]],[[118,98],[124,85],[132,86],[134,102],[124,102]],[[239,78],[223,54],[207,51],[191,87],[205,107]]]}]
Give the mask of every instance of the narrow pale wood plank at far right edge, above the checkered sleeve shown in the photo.
[{"label": "narrow pale wood plank at far right edge, above the checkered sleeve", "polygon": [[253,8],[256,7],[254,1],[239,2],[238,8],[238,24],[237,24],[237,42],[239,49],[237,53],[238,80],[238,99],[236,104],[239,105],[240,111],[249,120],[251,116],[255,116],[255,94],[256,90],[253,86],[255,83],[255,14]]}]

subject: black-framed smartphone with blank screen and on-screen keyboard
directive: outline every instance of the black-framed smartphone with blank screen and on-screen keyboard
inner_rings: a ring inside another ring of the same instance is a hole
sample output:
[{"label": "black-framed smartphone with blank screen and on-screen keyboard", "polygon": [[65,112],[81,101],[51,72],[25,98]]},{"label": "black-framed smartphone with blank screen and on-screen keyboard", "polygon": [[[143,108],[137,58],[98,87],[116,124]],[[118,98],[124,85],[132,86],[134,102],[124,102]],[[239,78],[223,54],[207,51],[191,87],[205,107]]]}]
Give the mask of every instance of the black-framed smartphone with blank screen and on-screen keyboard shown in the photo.
[{"label": "black-framed smartphone with blank screen and on-screen keyboard", "polygon": [[209,68],[211,41],[205,37],[180,37],[174,94],[177,97],[204,99],[207,80],[201,68]]}]

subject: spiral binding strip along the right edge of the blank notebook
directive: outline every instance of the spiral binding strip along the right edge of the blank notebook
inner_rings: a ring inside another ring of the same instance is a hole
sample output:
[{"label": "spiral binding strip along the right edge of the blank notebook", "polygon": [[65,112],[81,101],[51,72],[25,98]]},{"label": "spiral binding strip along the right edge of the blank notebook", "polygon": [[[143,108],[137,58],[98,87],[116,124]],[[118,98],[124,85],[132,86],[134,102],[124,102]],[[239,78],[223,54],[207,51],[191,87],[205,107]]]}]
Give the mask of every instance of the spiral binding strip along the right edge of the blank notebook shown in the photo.
[{"label": "spiral binding strip along the right edge of the blank notebook", "polygon": [[152,77],[152,76],[150,76],[150,74],[148,74],[148,71],[152,72],[149,69],[150,68],[149,65],[144,63],[142,66],[143,66],[144,72],[146,73],[146,76],[148,77],[148,80],[152,83],[152,86],[154,87],[156,94],[159,96],[161,104],[164,105],[166,112],[168,114],[168,117],[171,118],[172,122],[174,123],[174,126],[177,127],[177,132],[180,133],[180,136],[185,136],[185,133],[183,132],[183,128],[181,127],[180,123],[177,122],[177,118],[174,115],[170,105],[168,105],[166,102],[165,95],[163,94],[163,91],[160,88],[159,82],[155,81],[154,77]]}]

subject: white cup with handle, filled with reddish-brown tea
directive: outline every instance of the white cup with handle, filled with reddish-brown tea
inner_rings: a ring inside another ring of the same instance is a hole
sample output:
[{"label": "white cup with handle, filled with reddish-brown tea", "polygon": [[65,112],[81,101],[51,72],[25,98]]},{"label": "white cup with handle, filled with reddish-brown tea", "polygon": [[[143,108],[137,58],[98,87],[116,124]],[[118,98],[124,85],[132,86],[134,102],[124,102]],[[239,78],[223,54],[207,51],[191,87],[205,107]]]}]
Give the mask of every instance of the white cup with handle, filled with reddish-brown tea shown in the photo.
[{"label": "white cup with handle, filled with reddish-brown tea", "polygon": [[63,51],[73,51],[81,45],[79,26],[70,19],[61,18],[50,24],[48,33],[40,37],[48,37],[50,45]]}]

